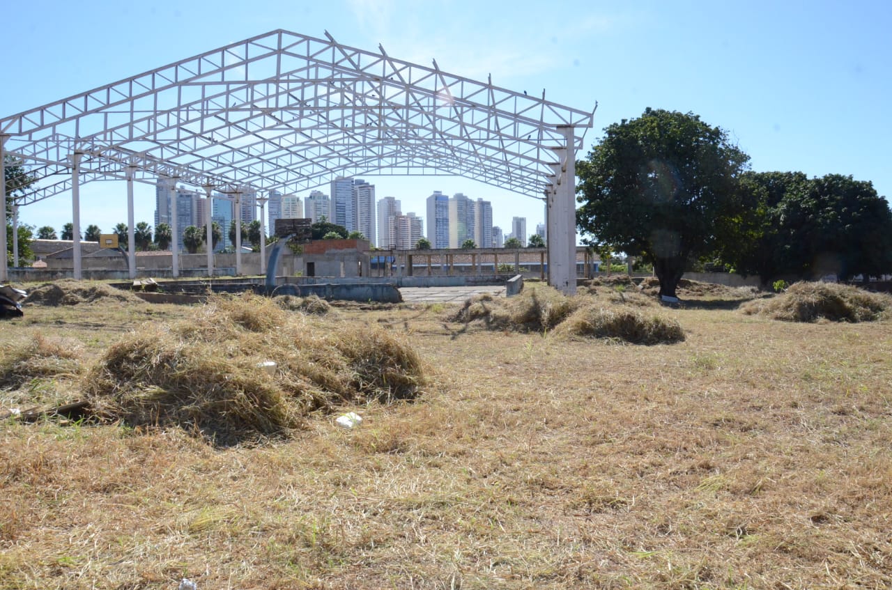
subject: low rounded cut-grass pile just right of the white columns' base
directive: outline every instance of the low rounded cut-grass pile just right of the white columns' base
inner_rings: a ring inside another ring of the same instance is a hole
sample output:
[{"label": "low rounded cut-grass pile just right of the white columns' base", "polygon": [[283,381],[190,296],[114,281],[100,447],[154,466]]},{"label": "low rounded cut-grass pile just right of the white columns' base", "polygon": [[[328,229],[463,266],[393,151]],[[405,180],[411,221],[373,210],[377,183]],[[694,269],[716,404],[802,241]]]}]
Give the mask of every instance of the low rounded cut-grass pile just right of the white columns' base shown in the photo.
[{"label": "low rounded cut-grass pile just right of the white columns' base", "polygon": [[569,336],[622,340],[631,344],[671,344],[684,340],[681,325],[661,315],[630,307],[580,307],[558,327]]}]

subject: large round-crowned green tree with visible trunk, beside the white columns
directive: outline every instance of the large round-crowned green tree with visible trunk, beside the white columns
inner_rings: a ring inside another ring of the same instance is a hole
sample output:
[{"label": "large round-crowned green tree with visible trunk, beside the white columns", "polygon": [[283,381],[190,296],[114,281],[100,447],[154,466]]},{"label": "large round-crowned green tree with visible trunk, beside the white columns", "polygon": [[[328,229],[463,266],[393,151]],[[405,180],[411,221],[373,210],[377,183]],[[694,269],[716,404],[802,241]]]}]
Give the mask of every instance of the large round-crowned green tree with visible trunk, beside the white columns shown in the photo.
[{"label": "large round-crowned green tree with visible trunk, beside the white columns", "polygon": [[577,162],[579,229],[653,264],[660,295],[675,290],[691,258],[714,251],[743,210],[747,154],[692,113],[648,109],[605,129]]}]

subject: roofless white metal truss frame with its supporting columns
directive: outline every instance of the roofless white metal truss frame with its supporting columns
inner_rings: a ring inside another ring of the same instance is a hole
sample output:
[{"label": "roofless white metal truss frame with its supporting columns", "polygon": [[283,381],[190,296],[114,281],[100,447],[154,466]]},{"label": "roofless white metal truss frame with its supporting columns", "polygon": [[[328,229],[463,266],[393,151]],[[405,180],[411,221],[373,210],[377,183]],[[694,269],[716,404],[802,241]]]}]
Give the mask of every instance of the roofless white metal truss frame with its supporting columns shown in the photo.
[{"label": "roofless white metal truss frame with its supporting columns", "polygon": [[[132,212],[133,181],[244,194],[336,176],[465,176],[549,203],[549,242],[567,250],[549,256],[549,281],[572,292],[574,160],[593,115],[380,45],[279,29],[2,118],[0,160],[37,179],[16,206],[70,192],[75,228],[79,184],[100,179],[128,181]],[[0,222],[4,238],[5,210]]]}]

